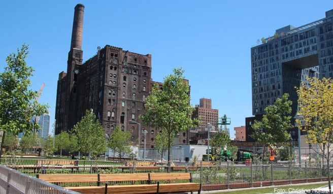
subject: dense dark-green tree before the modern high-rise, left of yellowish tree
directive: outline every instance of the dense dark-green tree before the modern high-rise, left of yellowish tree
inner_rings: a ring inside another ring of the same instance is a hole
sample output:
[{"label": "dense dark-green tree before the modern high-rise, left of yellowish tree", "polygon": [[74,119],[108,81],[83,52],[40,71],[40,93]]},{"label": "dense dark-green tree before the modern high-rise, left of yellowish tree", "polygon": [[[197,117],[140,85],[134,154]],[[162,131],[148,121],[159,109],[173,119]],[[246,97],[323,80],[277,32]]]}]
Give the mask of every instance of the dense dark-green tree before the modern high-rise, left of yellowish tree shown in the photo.
[{"label": "dense dark-green tree before the modern high-rise, left of yellowish tree", "polygon": [[[258,143],[277,144],[290,141],[290,134],[287,132],[291,125],[291,104],[288,100],[289,94],[285,93],[282,99],[277,98],[273,105],[267,106],[261,121],[255,120],[252,128],[252,137]],[[264,151],[262,158],[264,158]]]}]

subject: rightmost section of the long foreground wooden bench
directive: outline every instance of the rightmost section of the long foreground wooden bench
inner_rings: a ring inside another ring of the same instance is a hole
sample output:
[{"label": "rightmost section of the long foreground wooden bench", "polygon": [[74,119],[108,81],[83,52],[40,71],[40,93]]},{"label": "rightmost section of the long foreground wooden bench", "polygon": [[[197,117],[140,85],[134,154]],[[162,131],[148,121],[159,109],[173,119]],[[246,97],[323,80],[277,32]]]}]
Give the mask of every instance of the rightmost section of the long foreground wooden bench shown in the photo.
[{"label": "rightmost section of the long foreground wooden bench", "polygon": [[[157,181],[157,192],[156,193],[169,193],[169,192],[191,192],[197,191],[198,194],[201,192],[201,184],[192,182],[191,173],[151,173],[149,174],[149,180],[151,183]],[[175,181],[175,180],[188,180],[185,183],[162,183],[161,180]]]}]

